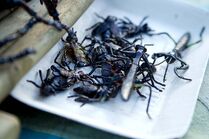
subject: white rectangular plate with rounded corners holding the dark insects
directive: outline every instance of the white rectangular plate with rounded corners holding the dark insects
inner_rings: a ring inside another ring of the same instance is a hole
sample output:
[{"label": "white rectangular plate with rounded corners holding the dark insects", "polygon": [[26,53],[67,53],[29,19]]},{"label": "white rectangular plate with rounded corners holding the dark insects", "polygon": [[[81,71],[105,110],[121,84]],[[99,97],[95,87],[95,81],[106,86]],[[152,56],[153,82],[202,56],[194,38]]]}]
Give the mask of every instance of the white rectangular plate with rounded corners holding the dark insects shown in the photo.
[{"label": "white rectangular plate with rounded corners holding the dark insects", "polygon": [[[163,92],[153,92],[151,100],[150,120],[145,112],[147,100],[142,100],[133,93],[128,102],[123,102],[120,95],[104,103],[86,104],[68,99],[73,92],[67,90],[48,98],[39,97],[39,89],[26,82],[34,80],[40,84],[37,71],[46,71],[53,64],[53,59],[59,49],[63,47],[58,42],[17,84],[12,96],[32,107],[69,118],[86,125],[105,131],[132,138],[176,138],[182,137],[189,128],[194,112],[199,89],[203,80],[209,54],[209,14],[194,7],[173,1],[151,0],[96,0],[73,26],[77,30],[79,41],[87,34],[86,28],[101,21],[94,13],[103,17],[114,15],[127,16],[135,23],[139,23],[144,16],[149,16],[147,22],[156,32],[166,31],[176,40],[186,31],[191,32],[192,41],[198,40],[202,26],[206,26],[204,41],[183,54],[183,59],[190,65],[184,74],[193,79],[185,82],[173,73],[173,66],[169,68],[166,88]],[[153,51],[169,51],[174,46],[165,36],[155,36],[145,39],[143,43],[153,43],[148,53]],[[162,69],[158,68],[156,78],[162,76]],[[162,77],[161,77],[162,78]],[[161,80],[162,81],[162,80]],[[147,95],[146,90],[144,93]]]}]

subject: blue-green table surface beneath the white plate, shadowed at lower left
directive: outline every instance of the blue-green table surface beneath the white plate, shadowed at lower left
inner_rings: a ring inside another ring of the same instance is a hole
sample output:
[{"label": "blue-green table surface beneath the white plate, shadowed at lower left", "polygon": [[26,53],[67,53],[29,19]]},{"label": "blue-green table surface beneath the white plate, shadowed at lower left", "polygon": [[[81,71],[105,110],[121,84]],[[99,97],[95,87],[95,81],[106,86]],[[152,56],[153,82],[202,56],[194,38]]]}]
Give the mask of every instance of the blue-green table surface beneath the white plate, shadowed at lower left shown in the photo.
[{"label": "blue-green table surface beneath the white plate, shadowed at lower left", "polygon": [[[198,8],[209,11],[208,0],[184,0]],[[200,89],[193,121],[190,129],[183,139],[208,139],[209,138],[209,62],[207,64],[204,80]],[[15,109],[14,107],[15,106]],[[77,122],[55,116],[37,109],[31,108],[7,98],[0,108],[17,115],[22,123],[21,139],[62,139],[62,138],[100,138],[123,139],[124,137],[113,135]]]}]

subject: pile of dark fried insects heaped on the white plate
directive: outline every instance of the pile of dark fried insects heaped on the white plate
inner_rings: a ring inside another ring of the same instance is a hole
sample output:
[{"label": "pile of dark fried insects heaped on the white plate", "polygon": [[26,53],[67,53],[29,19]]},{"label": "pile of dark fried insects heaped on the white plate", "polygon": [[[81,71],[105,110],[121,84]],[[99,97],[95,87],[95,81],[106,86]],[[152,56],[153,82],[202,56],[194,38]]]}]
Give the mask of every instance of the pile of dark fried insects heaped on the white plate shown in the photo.
[{"label": "pile of dark fried insects heaped on the white plate", "polygon": [[[185,33],[179,41],[175,41],[166,32],[155,33],[146,23],[144,17],[139,25],[134,24],[128,18],[117,18],[97,15],[101,22],[94,24],[87,30],[91,33],[78,42],[76,31],[73,28],[67,32],[67,37],[62,39],[64,47],[55,56],[54,64],[42,75],[39,70],[41,84],[27,80],[40,88],[40,95],[47,97],[63,92],[73,87],[76,102],[86,103],[108,101],[115,98],[118,93],[122,99],[127,101],[132,90],[140,97],[147,98],[142,87],[149,89],[146,112],[149,118],[149,105],[152,91],[163,91],[165,87],[167,70],[170,64],[178,62],[179,66],[174,68],[175,75],[182,79],[191,81],[184,77],[181,71],[186,71],[189,65],[181,57],[182,51],[202,41],[203,27],[200,31],[200,40],[189,44],[191,35]],[[171,52],[154,53],[149,55],[143,45],[143,36],[166,35],[173,43]],[[133,40],[133,41],[130,41]],[[148,57],[152,59],[149,60]],[[159,62],[159,58],[164,57]],[[158,61],[158,62],[156,62]],[[163,82],[157,81],[154,74],[156,66],[166,62]],[[83,68],[90,67],[86,73]],[[76,86],[74,86],[76,84]]]}]

